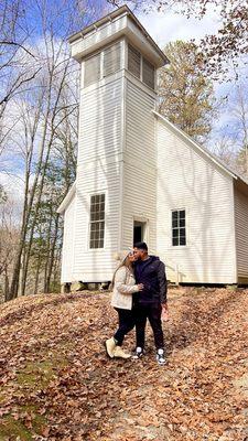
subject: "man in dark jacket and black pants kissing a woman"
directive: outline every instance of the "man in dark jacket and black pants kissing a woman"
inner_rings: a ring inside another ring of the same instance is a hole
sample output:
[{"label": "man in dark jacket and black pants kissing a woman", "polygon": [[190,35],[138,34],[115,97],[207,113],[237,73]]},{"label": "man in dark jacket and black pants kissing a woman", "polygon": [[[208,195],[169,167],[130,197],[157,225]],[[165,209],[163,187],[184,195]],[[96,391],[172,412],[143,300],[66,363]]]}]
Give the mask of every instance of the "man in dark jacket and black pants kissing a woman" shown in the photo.
[{"label": "man in dark jacket and black pants kissing a woman", "polygon": [[164,338],[161,323],[162,313],[168,313],[166,276],[164,263],[155,256],[148,255],[145,243],[137,243],[133,247],[136,283],[142,283],[143,289],[133,294],[133,313],[136,318],[136,358],[143,355],[144,331],[149,320],[155,342],[157,361],[165,363]]}]

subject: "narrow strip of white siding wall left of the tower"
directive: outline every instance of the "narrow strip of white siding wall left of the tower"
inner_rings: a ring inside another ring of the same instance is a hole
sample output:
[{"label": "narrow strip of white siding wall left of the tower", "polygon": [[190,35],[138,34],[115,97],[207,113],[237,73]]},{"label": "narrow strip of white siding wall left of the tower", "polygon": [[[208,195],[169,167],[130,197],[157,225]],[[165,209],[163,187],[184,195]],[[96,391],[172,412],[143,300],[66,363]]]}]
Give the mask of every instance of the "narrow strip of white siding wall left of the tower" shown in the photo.
[{"label": "narrow strip of white siding wall left of the tower", "polygon": [[62,283],[71,282],[73,280],[75,206],[74,195],[64,215]]}]

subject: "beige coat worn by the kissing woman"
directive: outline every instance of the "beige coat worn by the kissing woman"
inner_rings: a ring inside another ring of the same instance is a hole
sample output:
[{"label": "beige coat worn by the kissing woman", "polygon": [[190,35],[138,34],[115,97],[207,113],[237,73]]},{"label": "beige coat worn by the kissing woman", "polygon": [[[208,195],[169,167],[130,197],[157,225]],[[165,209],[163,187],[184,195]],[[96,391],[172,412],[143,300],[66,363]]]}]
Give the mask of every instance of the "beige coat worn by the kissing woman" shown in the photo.
[{"label": "beige coat worn by the kissing woman", "polygon": [[115,277],[111,305],[122,310],[131,310],[132,293],[138,291],[132,271],[127,267],[120,267]]}]

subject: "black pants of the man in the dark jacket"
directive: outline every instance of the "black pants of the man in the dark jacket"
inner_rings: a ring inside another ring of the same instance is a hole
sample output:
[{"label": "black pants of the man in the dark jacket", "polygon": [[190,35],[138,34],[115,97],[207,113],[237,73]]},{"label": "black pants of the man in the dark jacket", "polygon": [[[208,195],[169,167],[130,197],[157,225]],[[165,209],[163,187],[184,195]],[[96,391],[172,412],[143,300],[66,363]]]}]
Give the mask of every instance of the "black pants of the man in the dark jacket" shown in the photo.
[{"label": "black pants of the man in the dark jacket", "polygon": [[133,309],[136,320],[136,345],[144,347],[144,332],[147,319],[153,331],[157,349],[164,348],[163,330],[161,322],[161,303],[136,304]]}]

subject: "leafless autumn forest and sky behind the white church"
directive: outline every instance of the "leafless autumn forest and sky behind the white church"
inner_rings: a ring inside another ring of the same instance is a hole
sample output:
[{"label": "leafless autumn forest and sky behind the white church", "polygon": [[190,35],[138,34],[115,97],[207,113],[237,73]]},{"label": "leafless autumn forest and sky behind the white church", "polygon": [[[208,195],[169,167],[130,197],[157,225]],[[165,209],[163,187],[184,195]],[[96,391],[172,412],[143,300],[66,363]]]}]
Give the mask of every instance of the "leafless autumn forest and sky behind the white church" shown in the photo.
[{"label": "leafless autumn forest and sky behind the white church", "polygon": [[[138,17],[157,10],[201,20],[216,10],[217,33],[162,47],[170,65],[159,72],[158,109],[247,176],[246,1],[127,3]],[[67,39],[121,4],[0,2],[1,301],[60,292],[63,218],[57,207],[75,180],[79,101],[79,65]]]}]

